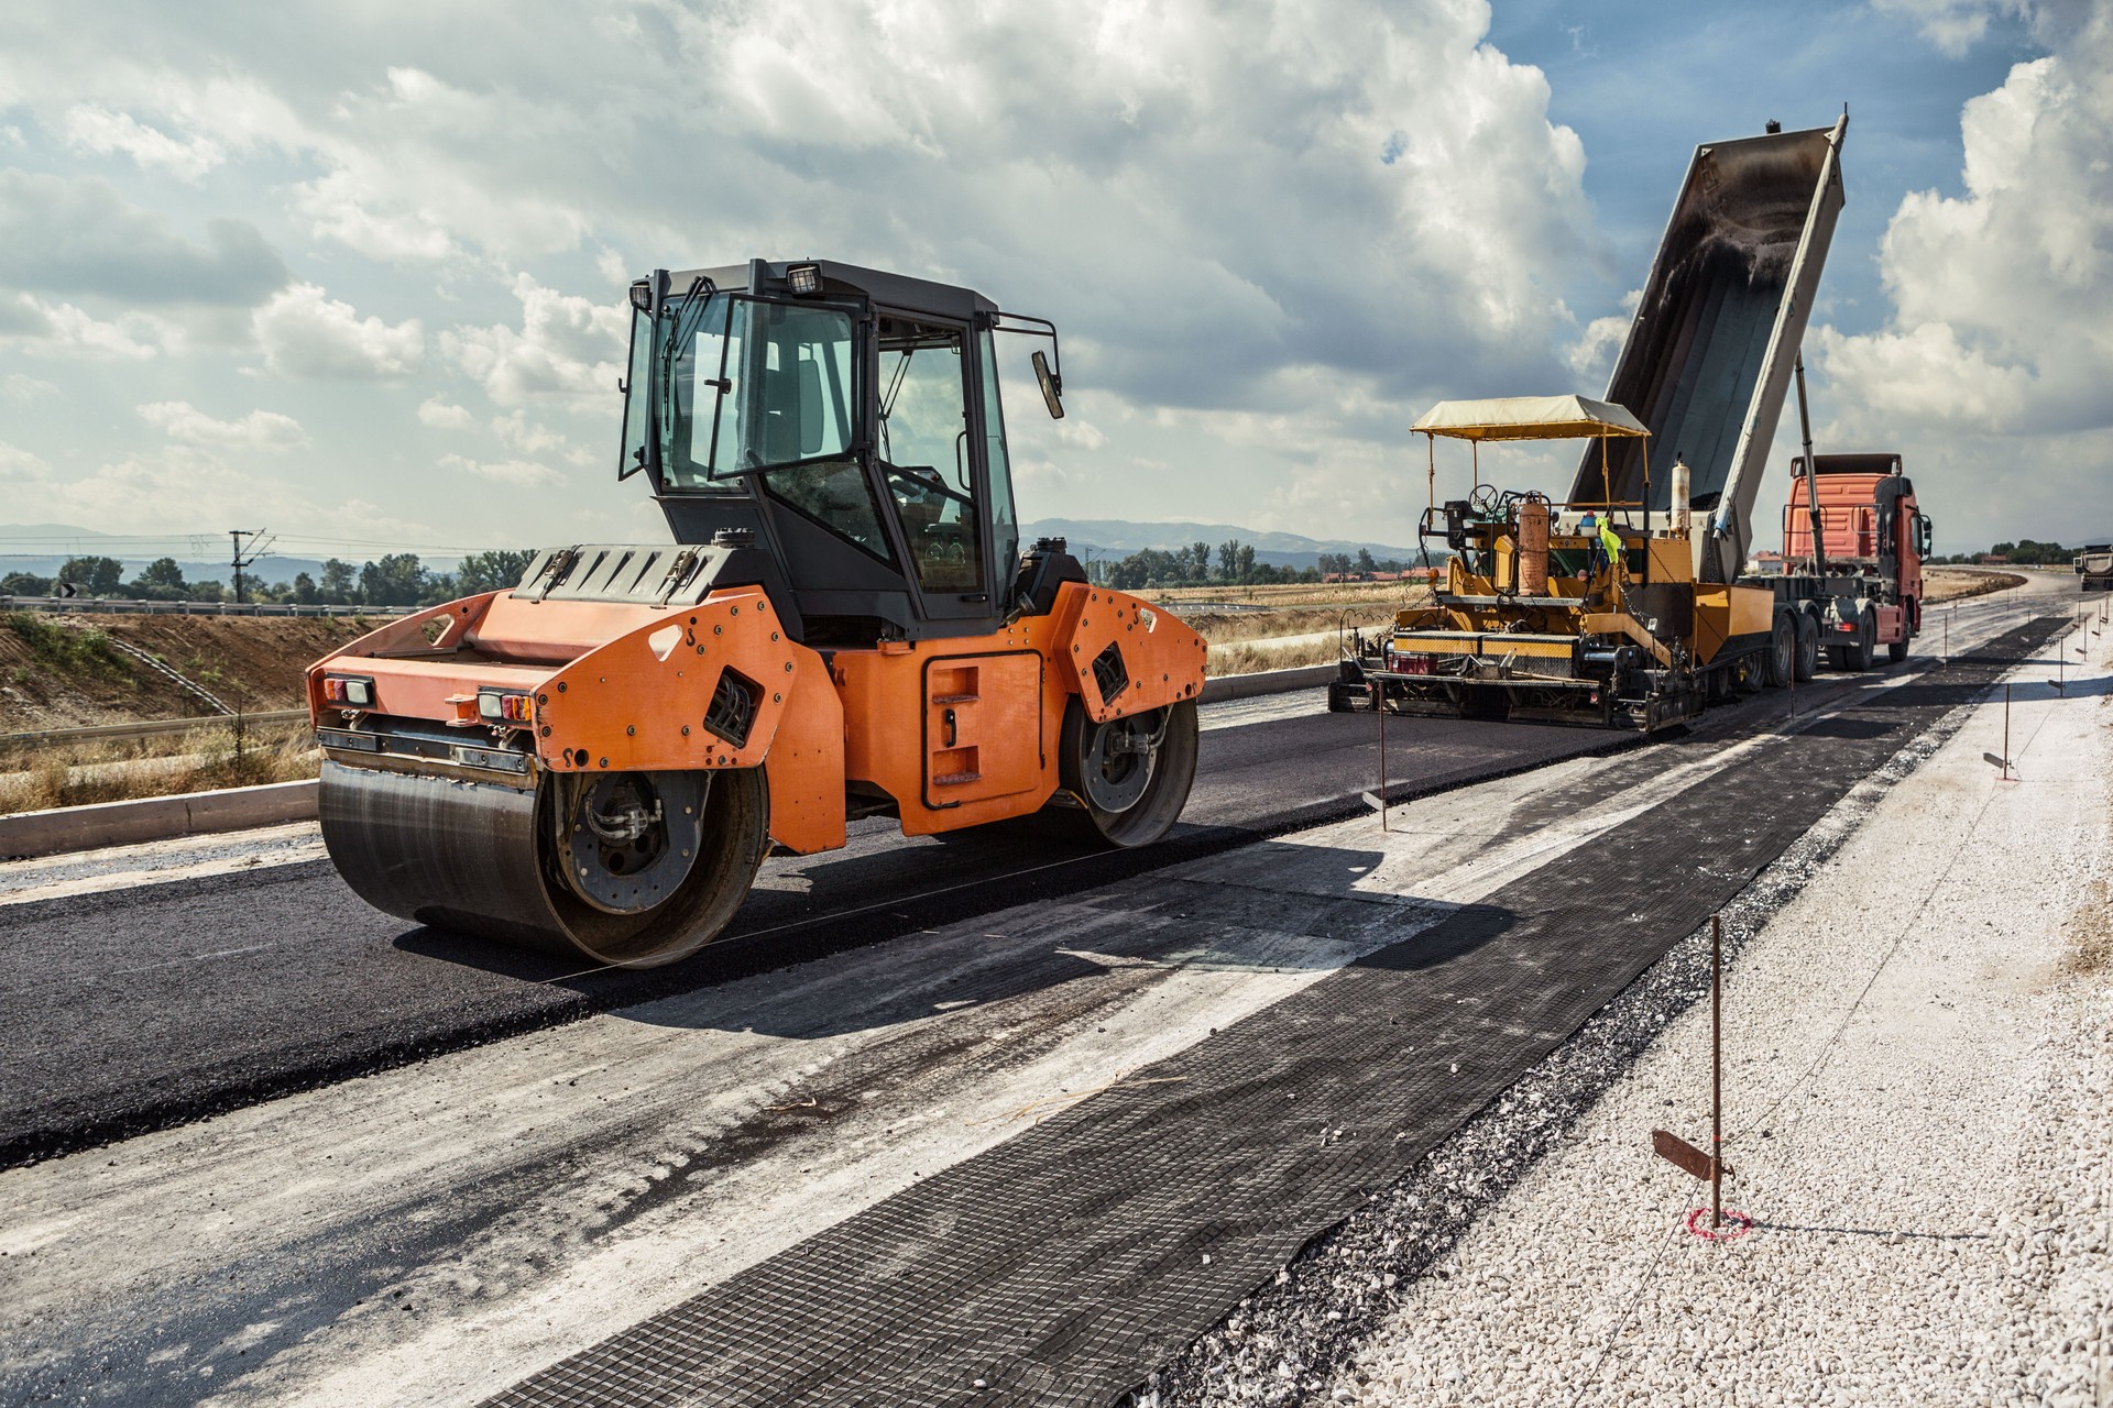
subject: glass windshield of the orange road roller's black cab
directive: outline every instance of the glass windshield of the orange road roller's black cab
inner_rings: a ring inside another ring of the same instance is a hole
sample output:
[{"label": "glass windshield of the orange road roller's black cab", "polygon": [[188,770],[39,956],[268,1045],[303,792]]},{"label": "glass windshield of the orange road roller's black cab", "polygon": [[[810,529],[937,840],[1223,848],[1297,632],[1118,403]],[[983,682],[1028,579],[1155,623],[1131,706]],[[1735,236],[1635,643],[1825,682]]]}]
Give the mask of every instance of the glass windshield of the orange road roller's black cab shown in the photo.
[{"label": "glass windshield of the orange road roller's black cab", "polygon": [[[847,460],[856,439],[852,315],[699,289],[632,321],[625,460],[657,439],[661,488]],[[655,435],[657,431],[657,435]]]}]

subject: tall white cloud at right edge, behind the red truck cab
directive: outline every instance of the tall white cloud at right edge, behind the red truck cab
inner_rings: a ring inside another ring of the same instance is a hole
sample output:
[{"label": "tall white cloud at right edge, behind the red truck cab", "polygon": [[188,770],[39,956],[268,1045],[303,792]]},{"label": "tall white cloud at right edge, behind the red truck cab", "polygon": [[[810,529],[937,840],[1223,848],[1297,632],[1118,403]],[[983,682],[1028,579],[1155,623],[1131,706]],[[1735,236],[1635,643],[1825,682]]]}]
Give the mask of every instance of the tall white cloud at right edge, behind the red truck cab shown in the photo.
[{"label": "tall white cloud at right edge, behind the red truck cab", "polygon": [[2079,515],[2113,526],[2109,72],[2113,15],[2098,6],[2056,53],[1971,99],[1965,192],[1910,192],[1887,226],[1889,323],[1815,334],[1832,388],[1819,403],[1836,407],[1826,433],[1902,450],[1940,524],[1946,498],[1988,505],[1988,532],[1950,519],[1965,543],[2047,536]]}]

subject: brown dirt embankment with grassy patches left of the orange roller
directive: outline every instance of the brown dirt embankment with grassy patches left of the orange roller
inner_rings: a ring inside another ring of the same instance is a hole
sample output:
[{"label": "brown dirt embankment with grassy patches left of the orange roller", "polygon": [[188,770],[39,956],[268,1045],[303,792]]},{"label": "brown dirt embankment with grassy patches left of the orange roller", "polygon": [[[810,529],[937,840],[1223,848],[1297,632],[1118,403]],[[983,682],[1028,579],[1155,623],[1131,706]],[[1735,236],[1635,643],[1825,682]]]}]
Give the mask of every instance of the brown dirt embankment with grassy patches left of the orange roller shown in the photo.
[{"label": "brown dirt embankment with grassy patches left of the orange roller", "polygon": [[372,629],[353,616],[0,616],[0,732],[209,713],[131,659],[161,659],[243,711],[296,709],[302,667]]}]

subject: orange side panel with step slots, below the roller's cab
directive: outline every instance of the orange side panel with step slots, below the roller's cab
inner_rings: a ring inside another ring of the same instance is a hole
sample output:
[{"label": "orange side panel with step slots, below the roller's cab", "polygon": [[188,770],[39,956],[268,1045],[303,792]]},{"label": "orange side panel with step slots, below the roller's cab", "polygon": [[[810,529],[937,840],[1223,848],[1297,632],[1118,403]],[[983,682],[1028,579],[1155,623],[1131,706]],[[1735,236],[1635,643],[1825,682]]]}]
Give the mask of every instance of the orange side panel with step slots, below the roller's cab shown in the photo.
[{"label": "orange side panel with step slots, below the roller's cab", "polygon": [[942,654],[923,671],[923,804],[1031,792],[1042,760],[1042,654]]}]

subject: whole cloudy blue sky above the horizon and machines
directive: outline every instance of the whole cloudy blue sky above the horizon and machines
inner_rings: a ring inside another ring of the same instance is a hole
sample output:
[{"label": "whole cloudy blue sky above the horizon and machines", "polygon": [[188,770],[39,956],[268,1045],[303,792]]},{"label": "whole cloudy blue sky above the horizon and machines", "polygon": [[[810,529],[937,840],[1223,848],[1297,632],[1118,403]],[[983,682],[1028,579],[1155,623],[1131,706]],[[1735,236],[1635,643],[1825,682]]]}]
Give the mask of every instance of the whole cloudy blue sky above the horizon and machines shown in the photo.
[{"label": "whole cloudy blue sky above the horizon and machines", "polygon": [[1409,545],[1416,416],[1597,395],[1695,146],[1847,106],[1817,448],[1940,551],[2113,536],[2113,0],[93,11],[0,15],[0,524],[661,540],[623,289],[763,255],[1054,319],[1029,519]]}]

